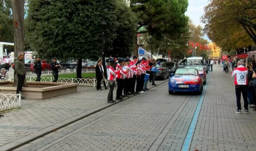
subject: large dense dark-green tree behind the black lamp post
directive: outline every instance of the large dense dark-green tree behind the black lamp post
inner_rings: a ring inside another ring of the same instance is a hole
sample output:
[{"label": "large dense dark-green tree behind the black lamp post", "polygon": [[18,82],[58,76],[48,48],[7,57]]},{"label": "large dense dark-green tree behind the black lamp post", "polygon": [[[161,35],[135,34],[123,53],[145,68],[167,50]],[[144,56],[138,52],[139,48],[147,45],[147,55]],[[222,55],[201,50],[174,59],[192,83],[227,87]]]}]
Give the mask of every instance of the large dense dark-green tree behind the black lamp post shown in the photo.
[{"label": "large dense dark-green tree behind the black lamp post", "polygon": [[82,59],[101,56],[102,32],[105,50],[113,49],[116,20],[115,0],[30,0],[27,38],[41,57],[80,60],[77,78],[82,78]]}]

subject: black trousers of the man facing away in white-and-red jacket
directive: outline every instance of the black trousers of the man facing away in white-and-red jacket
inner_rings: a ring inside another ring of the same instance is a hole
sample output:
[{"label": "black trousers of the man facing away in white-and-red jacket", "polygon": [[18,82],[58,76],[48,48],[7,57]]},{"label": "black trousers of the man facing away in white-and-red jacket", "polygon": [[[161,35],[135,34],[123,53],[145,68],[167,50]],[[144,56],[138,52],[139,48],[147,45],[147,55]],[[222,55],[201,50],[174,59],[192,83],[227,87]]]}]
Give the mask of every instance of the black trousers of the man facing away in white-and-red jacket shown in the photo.
[{"label": "black trousers of the man facing away in white-and-red jacket", "polygon": [[235,86],[235,95],[236,95],[236,105],[237,105],[237,109],[241,110],[241,93],[243,95],[244,98],[244,107],[245,109],[248,109],[248,95],[247,92],[248,91],[248,86],[246,85],[236,85]]}]

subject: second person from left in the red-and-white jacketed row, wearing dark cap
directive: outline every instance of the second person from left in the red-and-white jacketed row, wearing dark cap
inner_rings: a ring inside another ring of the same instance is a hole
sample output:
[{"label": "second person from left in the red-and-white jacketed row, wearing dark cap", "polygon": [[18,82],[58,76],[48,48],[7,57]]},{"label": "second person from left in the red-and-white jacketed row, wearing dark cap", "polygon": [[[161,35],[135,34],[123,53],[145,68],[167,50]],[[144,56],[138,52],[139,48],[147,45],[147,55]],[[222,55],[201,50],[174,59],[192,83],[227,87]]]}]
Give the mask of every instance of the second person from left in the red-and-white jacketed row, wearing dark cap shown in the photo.
[{"label": "second person from left in the red-and-white jacketed row, wearing dark cap", "polygon": [[116,65],[116,70],[120,70],[120,72],[117,74],[117,97],[116,100],[121,101],[123,100],[122,98],[122,93],[124,89],[124,76],[126,76],[126,73],[128,72],[129,69],[125,70],[124,68],[124,60],[123,59],[118,59],[118,64]]}]

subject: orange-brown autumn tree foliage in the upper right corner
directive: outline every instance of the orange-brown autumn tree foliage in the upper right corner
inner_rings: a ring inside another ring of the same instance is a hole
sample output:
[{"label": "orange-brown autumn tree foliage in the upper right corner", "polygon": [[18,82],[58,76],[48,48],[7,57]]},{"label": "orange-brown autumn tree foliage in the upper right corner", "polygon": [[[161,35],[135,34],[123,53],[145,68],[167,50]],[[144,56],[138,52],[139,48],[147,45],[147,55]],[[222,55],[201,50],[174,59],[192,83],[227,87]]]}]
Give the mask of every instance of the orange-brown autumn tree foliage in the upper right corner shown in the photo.
[{"label": "orange-brown autumn tree foliage in the upper right corner", "polygon": [[223,50],[256,43],[255,0],[211,0],[204,11],[204,30]]}]

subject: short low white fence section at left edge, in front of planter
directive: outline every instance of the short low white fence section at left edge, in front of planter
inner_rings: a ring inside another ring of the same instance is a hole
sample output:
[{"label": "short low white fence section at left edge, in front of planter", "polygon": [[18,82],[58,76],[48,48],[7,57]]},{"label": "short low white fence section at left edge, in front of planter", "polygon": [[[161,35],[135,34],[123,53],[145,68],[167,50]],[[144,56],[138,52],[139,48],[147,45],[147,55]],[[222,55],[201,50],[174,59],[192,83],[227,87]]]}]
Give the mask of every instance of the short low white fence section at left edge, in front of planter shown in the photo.
[{"label": "short low white fence section at left edge, in front of planter", "polygon": [[20,94],[2,94],[0,93],[0,111],[11,108],[21,107]]}]

